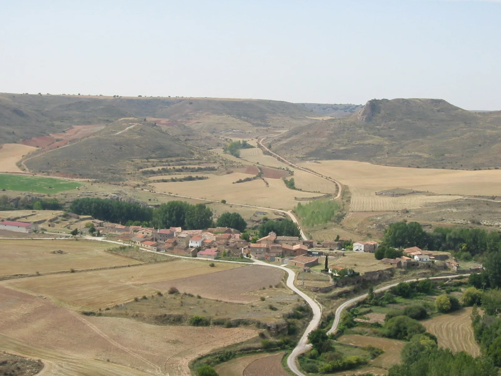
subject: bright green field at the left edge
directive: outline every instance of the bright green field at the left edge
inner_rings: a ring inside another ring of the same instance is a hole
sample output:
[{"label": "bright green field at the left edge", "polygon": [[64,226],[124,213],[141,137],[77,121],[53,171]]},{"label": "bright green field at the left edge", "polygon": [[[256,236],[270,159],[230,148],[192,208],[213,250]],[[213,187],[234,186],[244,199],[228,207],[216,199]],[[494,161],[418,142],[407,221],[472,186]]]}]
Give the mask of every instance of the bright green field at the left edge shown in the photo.
[{"label": "bright green field at the left edge", "polygon": [[74,190],[82,185],[77,181],[54,177],[0,174],[0,190],[53,194]]}]

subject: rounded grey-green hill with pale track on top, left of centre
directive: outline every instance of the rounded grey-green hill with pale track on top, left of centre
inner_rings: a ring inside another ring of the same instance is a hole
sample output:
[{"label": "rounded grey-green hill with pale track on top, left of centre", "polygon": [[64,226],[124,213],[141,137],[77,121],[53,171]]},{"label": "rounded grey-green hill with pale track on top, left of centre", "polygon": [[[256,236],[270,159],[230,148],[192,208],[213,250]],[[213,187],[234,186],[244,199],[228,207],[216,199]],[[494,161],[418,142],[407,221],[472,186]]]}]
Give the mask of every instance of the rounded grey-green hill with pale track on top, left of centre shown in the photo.
[{"label": "rounded grey-green hill with pale track on top, left of centre", "polygon": [[207,152],[182,142],[162,126],[127,118],[67,146],[30,154],[25,164],[36,172],[120,181],[148,160],[193,163],[204,157],[210,160]]}]

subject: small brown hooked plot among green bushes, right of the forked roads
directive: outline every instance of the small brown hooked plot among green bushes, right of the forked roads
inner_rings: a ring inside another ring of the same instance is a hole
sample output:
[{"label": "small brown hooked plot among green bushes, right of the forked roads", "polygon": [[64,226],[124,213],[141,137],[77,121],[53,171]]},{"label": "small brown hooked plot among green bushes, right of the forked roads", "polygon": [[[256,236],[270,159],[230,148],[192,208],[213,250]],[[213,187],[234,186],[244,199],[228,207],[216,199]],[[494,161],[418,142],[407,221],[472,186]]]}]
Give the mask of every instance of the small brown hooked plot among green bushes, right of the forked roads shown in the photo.
[{"label": "small brown hooked plot among green bushes, right of the forked roads", "polygon": [[338,342],[355,346],[374,346],[382,348],[384,353],[370,361],[376,367],[390,368],[393,364],[400,363],[400,351],[405,342],[390,338],[369,337],[359,334],[345,334],[339,337]]}]

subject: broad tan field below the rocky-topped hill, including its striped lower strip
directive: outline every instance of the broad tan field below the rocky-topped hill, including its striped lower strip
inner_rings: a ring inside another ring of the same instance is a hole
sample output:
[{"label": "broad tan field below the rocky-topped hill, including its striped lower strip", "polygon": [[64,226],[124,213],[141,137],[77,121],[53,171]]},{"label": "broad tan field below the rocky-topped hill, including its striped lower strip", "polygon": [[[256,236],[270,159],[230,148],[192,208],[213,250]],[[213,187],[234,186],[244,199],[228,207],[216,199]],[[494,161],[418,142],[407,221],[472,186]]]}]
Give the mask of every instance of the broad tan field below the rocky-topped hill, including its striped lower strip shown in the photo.
[{"label": "broad tan field below the rocky-topped hill, including its striped lower strip", "polygon": [[[427,203],[456,200],[462,195],[501,194],[500,170],[449,170],[435,168],[389,167],[352,160],[303,162],[313,169],[347,184],[352,192],[351,211],[384,211],[420,208]],[[412,189],[434,195],[413,194],[400,197],[376,196],[390,189]],[[452,195],[452,196],[447,196]]]}]

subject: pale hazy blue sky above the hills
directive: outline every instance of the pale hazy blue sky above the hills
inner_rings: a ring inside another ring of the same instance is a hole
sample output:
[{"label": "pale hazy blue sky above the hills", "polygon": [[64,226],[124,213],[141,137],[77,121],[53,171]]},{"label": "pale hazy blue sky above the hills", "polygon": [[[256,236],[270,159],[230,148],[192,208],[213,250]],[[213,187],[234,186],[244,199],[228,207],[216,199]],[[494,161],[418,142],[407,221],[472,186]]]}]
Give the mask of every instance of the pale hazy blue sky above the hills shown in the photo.
[{"label": "pale hazy blue sky above the hills", "polygon": [[0,1],[0,91],[501,110],[501,2]]}]

